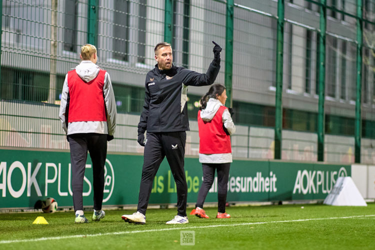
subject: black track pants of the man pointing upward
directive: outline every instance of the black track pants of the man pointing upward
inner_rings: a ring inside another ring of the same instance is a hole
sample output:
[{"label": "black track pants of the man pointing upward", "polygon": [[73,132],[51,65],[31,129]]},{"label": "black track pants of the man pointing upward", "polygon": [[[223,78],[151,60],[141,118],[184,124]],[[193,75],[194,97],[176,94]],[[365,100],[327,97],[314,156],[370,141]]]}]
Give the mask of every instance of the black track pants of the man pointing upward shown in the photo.
[{"label": "black track pants of the man pointing upward", "polygon": [[177,215],[186,216],[187,184],[183,168],[186,132],[147,132],[137,211],[146,214],[153,178],[164,156],[177,188]]}]

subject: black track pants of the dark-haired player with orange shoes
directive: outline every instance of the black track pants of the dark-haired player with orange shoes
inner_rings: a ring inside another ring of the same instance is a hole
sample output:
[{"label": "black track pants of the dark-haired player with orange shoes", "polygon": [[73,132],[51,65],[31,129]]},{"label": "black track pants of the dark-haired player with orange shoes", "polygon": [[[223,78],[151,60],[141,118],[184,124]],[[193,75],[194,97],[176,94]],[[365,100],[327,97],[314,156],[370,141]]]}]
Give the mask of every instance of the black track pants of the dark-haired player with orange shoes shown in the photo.
[{"label": "black track pants of the dark-haired player with orange shoes", "polygon": [[228,190],[230,163],[202,163],[203,168],[203,182],[198,192],[195,207],[203,208],[205,197],[207,196],[209,188],[211,188],[215,169],[217,171],[217,211],[225,212],[226,193]]}]

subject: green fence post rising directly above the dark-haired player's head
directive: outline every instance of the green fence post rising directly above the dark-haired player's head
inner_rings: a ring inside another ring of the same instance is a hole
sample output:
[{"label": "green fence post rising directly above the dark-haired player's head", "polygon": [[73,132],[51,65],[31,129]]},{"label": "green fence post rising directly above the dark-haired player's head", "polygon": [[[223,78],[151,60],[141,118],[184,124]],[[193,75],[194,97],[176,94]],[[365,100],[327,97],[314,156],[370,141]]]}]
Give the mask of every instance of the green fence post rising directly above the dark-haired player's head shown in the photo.
[{"label": "green fence post rising directly above the dark-haired player's head", "polygon": [[226,28],[225,28],[225,88],[226,103],[229,107],[232,102],[232,74],[233,74],[233,0],[226,1]]}]

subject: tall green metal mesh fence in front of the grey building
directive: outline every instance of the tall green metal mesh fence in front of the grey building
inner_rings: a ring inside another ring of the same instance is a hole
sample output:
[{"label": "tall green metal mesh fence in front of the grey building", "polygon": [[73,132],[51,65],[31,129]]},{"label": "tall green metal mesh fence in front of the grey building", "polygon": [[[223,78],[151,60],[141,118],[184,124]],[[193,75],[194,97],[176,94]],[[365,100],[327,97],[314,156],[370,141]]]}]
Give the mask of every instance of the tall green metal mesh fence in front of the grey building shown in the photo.
[{"label": "tall green metal mesh fence in front of the grey building", "polygon": [[[233,155],[375,162],[374,0],[2,0],[0,148],[66,150],[57,119],[64,76],[84,43],[111,77],[114,152],[141,153],[136,125],[153,46],[171,42],[176,65],[205,72],[223,47],[237,133]],[[191,87],[186,153],[197,154]],[[0,150],[1,152],[1,150]]]}]

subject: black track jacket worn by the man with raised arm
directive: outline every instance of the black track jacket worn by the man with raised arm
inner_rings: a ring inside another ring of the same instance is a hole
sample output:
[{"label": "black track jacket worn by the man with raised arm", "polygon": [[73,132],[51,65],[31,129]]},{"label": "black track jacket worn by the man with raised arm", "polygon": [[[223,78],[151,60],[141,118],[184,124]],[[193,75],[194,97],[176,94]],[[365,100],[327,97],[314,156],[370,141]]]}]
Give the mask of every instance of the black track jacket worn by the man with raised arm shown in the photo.
[{"label": "black track jacket worn by the man with raised arm", "polygon": [[219,69],[219,60],[212,60],[205,74],[176,67],[174,64],[169,70],[159,70],[156,64],[146,75],[144,104],[138,132],[189,130],[187,86],[211,85]]}]

